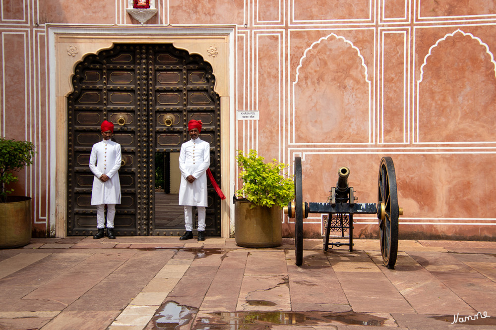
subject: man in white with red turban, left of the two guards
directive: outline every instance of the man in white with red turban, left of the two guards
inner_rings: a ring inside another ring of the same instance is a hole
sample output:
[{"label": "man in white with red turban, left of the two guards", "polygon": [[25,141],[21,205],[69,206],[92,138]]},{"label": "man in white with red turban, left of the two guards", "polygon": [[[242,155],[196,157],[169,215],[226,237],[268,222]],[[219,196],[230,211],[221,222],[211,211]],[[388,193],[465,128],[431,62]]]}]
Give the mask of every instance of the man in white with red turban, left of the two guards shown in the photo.
[{"label": "man in white with red turban, left of the two guards", "polygon": [[91,191],[91,205],[96,205],[98,232],[94,239],[104,236],[105,205],[107,205],[107,237],[115,239],[114,218],[116,204],[121,204],[121,182],[118,170],[121,167],[121,145],[111,140],[114,134],[114,124],[104,120],[102,125],[101,142],[91,148],[90,169],[95,174]]}]

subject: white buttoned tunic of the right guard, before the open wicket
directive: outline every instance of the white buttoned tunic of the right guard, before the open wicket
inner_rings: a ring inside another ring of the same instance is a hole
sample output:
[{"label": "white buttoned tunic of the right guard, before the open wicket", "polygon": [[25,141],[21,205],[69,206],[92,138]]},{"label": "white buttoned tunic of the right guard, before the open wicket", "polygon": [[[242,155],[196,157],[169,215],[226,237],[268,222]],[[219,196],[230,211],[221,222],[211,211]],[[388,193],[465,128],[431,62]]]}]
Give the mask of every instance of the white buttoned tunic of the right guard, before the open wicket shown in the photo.
[{"label": "white buttoned tunic of the right guard, before the open wicket", "polygon": [[[207,174],[210,166],[210,144],[196,138],[181,146],[179,169],[181,186],[179,188],[179,205],[207,206]],[[196,178],[193,183],[186,180],[188,175]]]}]

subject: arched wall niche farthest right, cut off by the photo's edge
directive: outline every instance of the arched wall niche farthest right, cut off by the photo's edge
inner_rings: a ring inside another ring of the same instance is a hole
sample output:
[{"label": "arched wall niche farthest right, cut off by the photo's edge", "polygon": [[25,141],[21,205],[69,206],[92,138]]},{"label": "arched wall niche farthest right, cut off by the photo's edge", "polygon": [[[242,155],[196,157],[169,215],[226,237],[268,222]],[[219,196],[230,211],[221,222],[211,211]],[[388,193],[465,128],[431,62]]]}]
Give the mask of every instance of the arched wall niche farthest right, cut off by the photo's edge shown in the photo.
[{"label": "arched wall niche farthest right, cut off by the photo's edge", "polygon": [[459,29],[439,39],[417,85],[417,142],[496,141],[496,62],[481,39]]}]

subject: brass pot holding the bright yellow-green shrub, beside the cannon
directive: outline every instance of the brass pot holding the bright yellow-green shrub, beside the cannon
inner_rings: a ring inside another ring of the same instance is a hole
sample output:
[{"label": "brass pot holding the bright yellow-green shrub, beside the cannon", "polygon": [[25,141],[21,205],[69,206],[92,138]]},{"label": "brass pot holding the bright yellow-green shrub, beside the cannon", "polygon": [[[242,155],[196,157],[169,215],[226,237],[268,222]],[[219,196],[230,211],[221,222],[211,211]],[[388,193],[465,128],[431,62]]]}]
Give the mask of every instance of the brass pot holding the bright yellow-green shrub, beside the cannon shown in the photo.
[{"label": "brass pot holding the bright yellow-green shrub, beside the cannon", "polygon": [[255,206],[243,199],[234,201],[234,231],[236,244],[249,248],[269,248],[281,245],[281,209]]}]

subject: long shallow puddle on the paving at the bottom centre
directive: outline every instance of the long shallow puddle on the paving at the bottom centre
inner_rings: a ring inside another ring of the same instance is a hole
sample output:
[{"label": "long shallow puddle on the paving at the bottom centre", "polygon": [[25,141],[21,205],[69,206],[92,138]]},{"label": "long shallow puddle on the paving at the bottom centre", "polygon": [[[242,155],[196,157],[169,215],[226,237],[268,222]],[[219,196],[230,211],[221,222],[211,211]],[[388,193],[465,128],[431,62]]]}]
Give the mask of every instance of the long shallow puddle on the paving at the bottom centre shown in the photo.
[{"label": "long shallow puddle on the paving at the bottom centre", "polygon": [[210,317],[198,320],[191,329],[270,329],[273,325],[360,325],[383,326],[388,319],[367,313],[330,312],[236,312],[209,313]]}]

